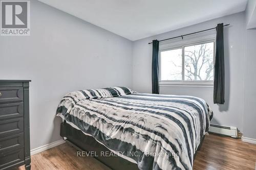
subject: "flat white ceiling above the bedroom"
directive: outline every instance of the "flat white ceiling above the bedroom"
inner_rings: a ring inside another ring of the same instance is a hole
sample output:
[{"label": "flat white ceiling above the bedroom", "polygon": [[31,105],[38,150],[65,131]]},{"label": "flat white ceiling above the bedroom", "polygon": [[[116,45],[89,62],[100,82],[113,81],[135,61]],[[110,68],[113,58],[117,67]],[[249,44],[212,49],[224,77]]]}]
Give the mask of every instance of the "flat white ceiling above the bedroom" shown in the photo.
[{"label": "flat white ceiling above the bedroom", "polygon": [[245,10],[247,0],[39,0],[132,41]]}]

